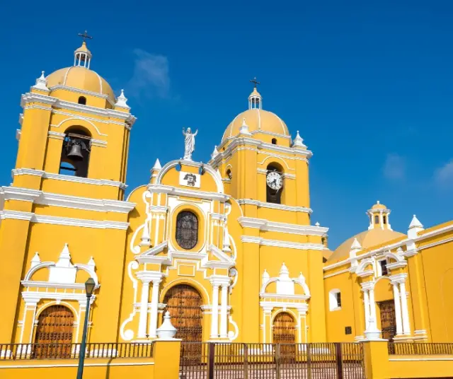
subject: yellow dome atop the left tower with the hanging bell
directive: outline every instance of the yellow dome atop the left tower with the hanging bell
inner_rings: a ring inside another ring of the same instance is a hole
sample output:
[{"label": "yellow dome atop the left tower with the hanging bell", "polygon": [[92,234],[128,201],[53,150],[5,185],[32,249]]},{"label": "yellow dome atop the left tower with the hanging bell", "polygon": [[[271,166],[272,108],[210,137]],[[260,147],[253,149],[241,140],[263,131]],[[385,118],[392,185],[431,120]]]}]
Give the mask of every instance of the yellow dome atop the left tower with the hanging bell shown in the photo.
[{"label": "yellow dome atop the left tower with the hanging bell", "polygon": [[108,98],[115,103],[115,94],[110,84],[99,76],[96,71],[86,69],[82,66],[71,66],[59,69],[46,78],[47,88],[52,91],[53,86],[67,86],[79,90],[101,93],[108,95]]}]

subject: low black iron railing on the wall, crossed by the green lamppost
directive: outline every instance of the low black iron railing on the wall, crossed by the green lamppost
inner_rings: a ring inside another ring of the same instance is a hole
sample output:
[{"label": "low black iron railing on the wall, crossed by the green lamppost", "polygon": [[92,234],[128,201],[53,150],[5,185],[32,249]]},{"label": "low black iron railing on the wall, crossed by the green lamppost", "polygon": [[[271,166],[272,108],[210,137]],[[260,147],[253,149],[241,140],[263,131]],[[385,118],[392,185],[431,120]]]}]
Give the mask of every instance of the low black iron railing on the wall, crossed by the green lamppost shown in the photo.
[{"label": "low black iron railing on the wall, crossed by the green lamppost", "polygon": [[[0,360],[74,359],[81,344],[0,344]],[[153,355],[152,344],[86,344],[86,358],[147,358]]]}]

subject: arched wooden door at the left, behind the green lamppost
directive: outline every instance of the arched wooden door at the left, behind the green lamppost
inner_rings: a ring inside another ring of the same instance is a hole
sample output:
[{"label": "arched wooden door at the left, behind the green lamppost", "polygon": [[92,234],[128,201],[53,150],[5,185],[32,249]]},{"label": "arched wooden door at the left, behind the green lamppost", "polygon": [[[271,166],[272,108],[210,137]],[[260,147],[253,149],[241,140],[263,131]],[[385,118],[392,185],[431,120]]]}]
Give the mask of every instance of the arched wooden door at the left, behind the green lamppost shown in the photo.
[{"label": "arched wooden door at the left, behind the green lamppost", "polygon": [[51,305],[38,317],[35,358],[64,357],[71,354],[74,315],[64,305]]}]

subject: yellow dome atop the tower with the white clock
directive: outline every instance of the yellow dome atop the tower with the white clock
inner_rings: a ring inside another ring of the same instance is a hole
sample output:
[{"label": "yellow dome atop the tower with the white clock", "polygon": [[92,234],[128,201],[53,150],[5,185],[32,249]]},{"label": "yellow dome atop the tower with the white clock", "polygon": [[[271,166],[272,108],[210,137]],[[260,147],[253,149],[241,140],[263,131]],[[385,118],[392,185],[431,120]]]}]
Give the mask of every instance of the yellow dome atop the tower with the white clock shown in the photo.
[{"label": "yellow dome atop the tower with the white clock", "polygon": [[280,117],[273,112],[254,108],[239,113],[239,115],[234,117],[233,121],[226,127],[222,142],[228,137],[237,136],[239,134],[239,128],[241,127],[244,118],[248,125],[248,132],[253,133],[262,131],[289,136],[288,127]]}]

